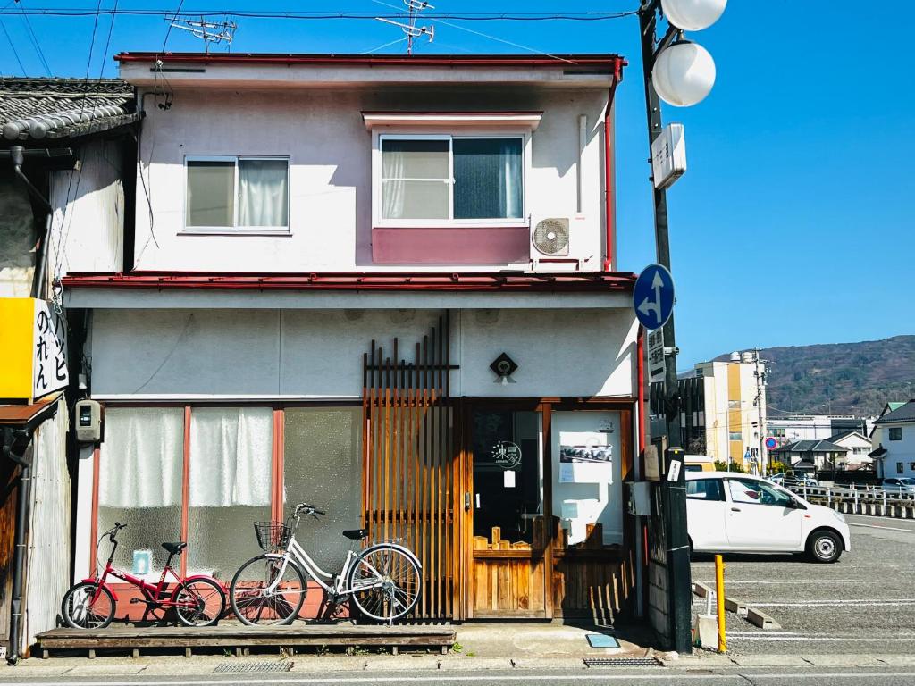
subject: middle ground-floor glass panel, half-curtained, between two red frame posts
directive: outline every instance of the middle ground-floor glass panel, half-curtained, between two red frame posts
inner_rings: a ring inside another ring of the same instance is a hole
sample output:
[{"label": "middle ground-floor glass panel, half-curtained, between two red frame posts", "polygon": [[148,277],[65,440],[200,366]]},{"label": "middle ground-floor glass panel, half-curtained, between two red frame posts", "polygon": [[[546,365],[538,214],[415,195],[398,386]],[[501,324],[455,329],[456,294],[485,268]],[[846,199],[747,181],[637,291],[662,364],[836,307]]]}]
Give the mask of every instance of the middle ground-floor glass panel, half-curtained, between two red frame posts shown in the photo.
[{"label": "middle ground-floor glass panel, half-curtained, between two red frame posts", "polygon": [[261,552],[252,522],[271,519],[273,433],[269,407],[191,410],[188,573],[231,580]]}]

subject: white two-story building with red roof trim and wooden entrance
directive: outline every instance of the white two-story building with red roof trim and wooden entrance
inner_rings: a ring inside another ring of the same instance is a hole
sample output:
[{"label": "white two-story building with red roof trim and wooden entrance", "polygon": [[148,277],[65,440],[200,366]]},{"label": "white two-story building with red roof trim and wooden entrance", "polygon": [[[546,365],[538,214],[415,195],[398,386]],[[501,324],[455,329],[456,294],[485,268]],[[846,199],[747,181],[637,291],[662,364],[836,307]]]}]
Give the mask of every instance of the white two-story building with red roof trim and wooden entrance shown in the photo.
[{"label": "white two-story building with red roof trim and wooden entrance", "polygon": [[643,431],[616,259],[625,62],[117,59],[145,120],[124,235],[96,249],[124,264],[63,279],[105,409],[75,575],[120,520],[154,571],[160,541],[186,540],[188,571],[228,580],[259,552],[252,521],[307,501],[329,514],[299,540],[328,571],[344,528],[414,549],[419,616],[627,606]]}]

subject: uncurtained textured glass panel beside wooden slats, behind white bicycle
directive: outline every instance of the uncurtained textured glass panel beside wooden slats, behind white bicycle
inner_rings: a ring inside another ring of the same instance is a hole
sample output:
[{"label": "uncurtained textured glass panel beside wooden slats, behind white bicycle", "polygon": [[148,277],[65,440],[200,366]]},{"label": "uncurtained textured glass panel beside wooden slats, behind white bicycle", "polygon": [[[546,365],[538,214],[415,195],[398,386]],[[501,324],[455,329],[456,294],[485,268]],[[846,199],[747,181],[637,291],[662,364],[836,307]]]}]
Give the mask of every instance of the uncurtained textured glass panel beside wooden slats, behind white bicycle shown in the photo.
[{"label": "uncurtained textured glass panel beside wooden slats, behind white bicycle", "polygon": [[361,522],[361,408],[285,410],[283,507],[307,502],[327,511],[302,520],[296,540],[326,572],[336,573],[353,547],[340,532]]}]

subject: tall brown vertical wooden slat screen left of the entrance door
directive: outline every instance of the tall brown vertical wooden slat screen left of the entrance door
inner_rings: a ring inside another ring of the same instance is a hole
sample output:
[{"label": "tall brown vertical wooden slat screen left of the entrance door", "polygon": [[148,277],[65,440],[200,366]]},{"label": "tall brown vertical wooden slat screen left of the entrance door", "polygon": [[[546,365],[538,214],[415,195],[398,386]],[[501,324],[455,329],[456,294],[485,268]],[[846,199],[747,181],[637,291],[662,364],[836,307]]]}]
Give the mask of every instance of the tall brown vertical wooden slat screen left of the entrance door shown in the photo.
[{"label": "tall brown vertical wooden slat screen left of the entrance door", "polygon": [[447,312],[412,360],[401,341],[363,356],[363,526],[368,543],[398,541],[423,566],[417,619],[462,618],[461,455],[450,397]]}]

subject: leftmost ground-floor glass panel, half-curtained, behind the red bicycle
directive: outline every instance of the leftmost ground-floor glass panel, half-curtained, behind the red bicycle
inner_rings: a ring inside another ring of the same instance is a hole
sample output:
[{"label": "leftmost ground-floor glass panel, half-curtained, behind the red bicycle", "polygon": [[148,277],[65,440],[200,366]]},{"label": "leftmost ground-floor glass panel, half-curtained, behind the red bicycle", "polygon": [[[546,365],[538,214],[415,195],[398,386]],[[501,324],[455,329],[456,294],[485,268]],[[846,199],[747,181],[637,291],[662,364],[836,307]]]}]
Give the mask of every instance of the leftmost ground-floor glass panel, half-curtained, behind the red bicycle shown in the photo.
[{"label": "leftmost ground-floor glass panel, half-curtained, behind the red bicycle", "polygon": [[[181,540],[181,483],[184,468],[184,408],[108,408],[99,451],[98,533],[115,521],[115,564],[136,574],[160,572],[163,541]],[[92,545],[95,541],[92,541]],[[109,542],[98,550],[104,563]]]}]

